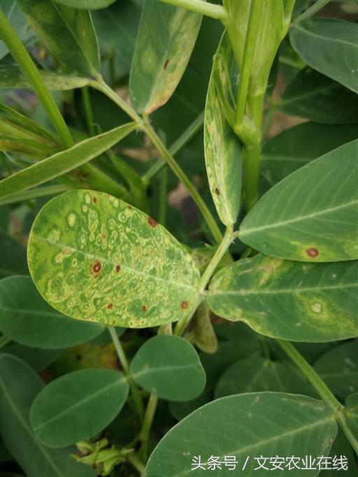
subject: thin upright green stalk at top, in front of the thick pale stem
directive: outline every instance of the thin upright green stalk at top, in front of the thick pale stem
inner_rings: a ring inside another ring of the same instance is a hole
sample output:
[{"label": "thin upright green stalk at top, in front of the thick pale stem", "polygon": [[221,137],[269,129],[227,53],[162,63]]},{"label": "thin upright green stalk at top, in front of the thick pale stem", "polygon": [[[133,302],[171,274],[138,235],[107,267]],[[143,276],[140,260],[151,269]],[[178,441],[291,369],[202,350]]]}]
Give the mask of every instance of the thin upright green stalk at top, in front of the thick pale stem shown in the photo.
[{"label": "thin upright green stalk at top, in front of the thick pale stem", "polygon": [[240,129],[243,125],[245,108],[248,99],[248,90],[250,84],[252,59],[255,52],[255,43],[257,36],[257,25],[261,15],[261,0],[252,0],[250,7],[250,17],[248,21],[248,30],[245,38],[245,49],[243,54],[243,64],[240,71],[240,83],[238,86],[238,99],[236,102],[236,120],[235,129]]}]

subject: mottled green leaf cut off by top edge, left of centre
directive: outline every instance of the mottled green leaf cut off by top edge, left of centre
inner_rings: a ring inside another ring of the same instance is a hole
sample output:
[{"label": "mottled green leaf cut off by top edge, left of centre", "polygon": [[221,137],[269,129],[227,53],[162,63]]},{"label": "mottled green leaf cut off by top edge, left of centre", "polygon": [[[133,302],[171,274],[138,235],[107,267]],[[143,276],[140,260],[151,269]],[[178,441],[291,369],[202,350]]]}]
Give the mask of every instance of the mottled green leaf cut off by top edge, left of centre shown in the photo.
[{"label": "mottled green leaf cut off by top edge, left of centre", "polygon": [[41,43],[60,62],[85,76],[101,67],[90,13],[53,0],[17,0]]}]

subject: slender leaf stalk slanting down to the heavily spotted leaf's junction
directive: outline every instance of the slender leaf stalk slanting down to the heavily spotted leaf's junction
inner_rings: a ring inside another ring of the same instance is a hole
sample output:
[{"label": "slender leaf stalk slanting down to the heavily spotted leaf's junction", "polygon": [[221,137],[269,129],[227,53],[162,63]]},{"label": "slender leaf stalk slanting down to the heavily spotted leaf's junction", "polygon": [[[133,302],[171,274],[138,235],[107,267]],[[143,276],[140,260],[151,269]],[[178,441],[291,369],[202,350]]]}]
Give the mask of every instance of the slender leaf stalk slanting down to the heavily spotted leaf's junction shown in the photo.
[{"label": "slender leaf stalk slanting down to the heavily spotted leaf's junction", "polygon": [[180,182],[186,187],[187,191],[192,196],[192,199],[194,200],[196,206],[198,206],[199,211],[201,211],[201,214],[203,215],[203,218],[206,221],[208,229],[213,235],[215,242],[220,243],[222,240],[222,234],[220,232],[219,227],[217,226],[217,223],[215,222],[215,219],[213,218],[213,215],[211,215],[208,206],[206,205],[205,201],[203,201],[199,192],[196,190],[196,187],[192,184],[185,172],[181,169],[178,162],[176,162],[176,159],[174,159],[174,157],[170,154],[169,150],[166,149],[165,145],[162,143],[159,136],[157,136],[157,133],[149,124],[149,122],[143,122],[141,116],[139,116],[131,108],[131,106],[129,106],[129,104],[127,104],[121,97],[119,97],[116,92],[111,90],[110,87],[106,85],[103,80],[93,82],[92,86],[106,94],[110,99],[112,99],[112,101],[115,102],[115,104],[117,104],[117,106],[120,106],[120,108],[125,113],[127,113],[127,115],[129,115],[132,120],[138,122],[138,124],[141,125],[141,128],[150,137],[152,144],[155,146],[159,154],[166,161],[173,173],[176,174]]}]

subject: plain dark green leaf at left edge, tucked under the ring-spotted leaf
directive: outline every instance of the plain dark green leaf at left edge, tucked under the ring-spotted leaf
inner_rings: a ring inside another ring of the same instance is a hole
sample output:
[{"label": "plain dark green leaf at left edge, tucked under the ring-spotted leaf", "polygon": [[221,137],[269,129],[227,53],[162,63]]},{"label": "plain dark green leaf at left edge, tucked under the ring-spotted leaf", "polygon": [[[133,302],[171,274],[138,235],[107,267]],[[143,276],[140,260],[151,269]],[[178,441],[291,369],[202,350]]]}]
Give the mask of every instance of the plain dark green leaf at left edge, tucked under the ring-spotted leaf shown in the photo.
[{"label": "plain dark green leaf at left edge, tucked under the ring-spotted leaf", "polygon": [[29,276],[0,280],[0,331],[34,348],[67,348],[103,332],[95,323],[71,320],[51,308]]}]

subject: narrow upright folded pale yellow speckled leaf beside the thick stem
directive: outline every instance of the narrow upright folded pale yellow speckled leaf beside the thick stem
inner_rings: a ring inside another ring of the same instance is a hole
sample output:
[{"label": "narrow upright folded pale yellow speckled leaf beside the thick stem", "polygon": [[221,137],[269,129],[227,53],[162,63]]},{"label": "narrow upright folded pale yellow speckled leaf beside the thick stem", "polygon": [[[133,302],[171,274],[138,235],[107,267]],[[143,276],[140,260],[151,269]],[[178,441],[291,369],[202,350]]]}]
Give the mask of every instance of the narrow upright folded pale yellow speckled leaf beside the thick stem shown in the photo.
[{"label": "narrow upright folded pale yellow speckled leaf beside the thick stem", "polygon": [[[241,142],[225,114],[228,108],[234,115],[231,104],[235,104],[233,94],[238,75],[235,64],[229,36],[224,34],[210,76],[204,122],[206,172],[217,214],[224,225],[236,222],[241,199]],[[217,90],[217,85],[220,85],[221,91]]]}]

